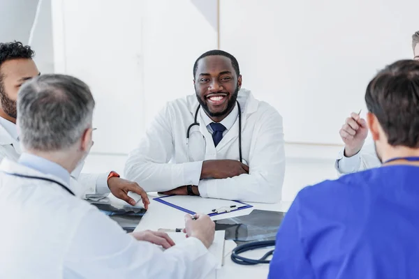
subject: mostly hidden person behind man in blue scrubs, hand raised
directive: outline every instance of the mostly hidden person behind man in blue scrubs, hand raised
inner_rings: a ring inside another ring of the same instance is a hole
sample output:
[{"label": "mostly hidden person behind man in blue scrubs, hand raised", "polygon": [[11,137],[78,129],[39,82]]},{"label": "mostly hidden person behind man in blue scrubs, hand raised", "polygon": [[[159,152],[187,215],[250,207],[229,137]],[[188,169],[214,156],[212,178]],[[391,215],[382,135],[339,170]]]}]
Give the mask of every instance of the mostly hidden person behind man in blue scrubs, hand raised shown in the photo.
[{"label": "mostly hidden person behind man in blue scrubs, hand raised", "polygon": [[[413,59],[419,61],[419,31],[412,35],[412,47]],[[371,140],[365,144],[368,135],[365,119],[361,119],[358,114],[353,112],[339,130],[339,135],[345,144],[335,162],[335,168],[339,174],[360,172],[381,165],[374,142]]]}]

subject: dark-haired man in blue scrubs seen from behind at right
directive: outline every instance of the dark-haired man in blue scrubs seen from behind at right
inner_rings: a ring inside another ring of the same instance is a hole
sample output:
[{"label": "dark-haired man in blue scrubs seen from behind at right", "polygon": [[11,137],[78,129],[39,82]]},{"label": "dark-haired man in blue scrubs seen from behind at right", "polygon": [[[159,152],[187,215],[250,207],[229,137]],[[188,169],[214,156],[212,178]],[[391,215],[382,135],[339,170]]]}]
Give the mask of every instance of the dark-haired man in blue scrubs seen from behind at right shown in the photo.
[{"label": "dark-haired man in blue scrubs seen from behind at right", "polygon": [[419,61],[381,70],[365,101],[382,167],[302,189],[269,278],[419,278]]}]

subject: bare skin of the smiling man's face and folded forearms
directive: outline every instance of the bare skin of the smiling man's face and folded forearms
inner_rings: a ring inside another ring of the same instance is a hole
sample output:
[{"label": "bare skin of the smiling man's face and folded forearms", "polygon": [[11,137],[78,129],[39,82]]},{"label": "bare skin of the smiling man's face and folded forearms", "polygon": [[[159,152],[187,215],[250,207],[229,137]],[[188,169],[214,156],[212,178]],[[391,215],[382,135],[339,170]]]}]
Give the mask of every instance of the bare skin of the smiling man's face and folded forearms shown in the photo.
[{"label": "bare skin of the smiling man's face and folded forearms", "polygon": [[[196,97],[205,113],[214,122],[221,122],[234,109],[228,103],[235,101],[235,91],[242,86],[242,75],[237,75],[228,57],[214,55],[198,61],[193,80]],[[213,100],[212,100],[212,99]],[[205,105],[207,108],[205,108]],[[227,179],[249,174],[249,167],[237,160],[205,160],[200,179]],[[200,195],[198,186],[192,186],[195,195]],[[186,186],[162,192],[164,195],[188,195]]]}]

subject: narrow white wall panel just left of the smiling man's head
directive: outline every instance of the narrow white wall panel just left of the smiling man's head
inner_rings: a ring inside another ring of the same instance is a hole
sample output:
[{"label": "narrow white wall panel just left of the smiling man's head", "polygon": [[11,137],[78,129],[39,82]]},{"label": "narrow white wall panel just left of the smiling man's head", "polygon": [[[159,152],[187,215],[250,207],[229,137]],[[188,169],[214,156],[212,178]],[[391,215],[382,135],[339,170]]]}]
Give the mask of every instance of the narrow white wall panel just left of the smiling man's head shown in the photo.
[{"label": "narrow white wall panel just left of the smiling man's head", "polygon": [[216,0],[145,1],[144,121],[168,100],[195,93],[193,63],[217,48]]}]

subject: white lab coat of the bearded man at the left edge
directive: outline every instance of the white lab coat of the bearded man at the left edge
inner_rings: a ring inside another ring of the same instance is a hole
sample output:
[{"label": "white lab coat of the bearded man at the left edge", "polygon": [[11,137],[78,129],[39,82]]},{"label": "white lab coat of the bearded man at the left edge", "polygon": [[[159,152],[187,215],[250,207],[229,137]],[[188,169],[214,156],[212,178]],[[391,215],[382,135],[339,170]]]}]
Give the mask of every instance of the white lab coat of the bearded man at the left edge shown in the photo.
[{"label": "white lab coat of the bearded man at the left edge", "polygon": [[[8,158],[17,162],[19,160],[22,150],[20,143],[17,142],[0,124],[0,161],[3,158]],[[78,167],[71,173],[71,183],[78,197],[85,197],[86,194],[96,193],[96,181],[102,174],[80,174],[84,162],[81,162]]]}]

